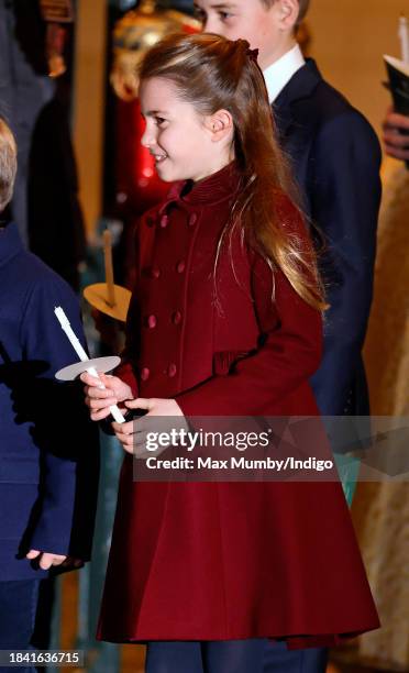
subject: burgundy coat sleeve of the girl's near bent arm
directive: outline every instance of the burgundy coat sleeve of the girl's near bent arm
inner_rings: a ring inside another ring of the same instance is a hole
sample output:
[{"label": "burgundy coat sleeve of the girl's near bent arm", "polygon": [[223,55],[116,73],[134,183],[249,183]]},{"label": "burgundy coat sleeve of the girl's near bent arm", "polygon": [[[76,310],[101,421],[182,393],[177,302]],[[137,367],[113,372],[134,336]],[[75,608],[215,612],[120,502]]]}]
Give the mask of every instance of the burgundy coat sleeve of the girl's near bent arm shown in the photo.
[{"label": "burgundy coat sleeve of the girl's near bent arm", "polygon": [[[291,208],[291,227],[307,240],[305,223]],[[185,416],[270,415],[272,408],[313,374],[321,358],[321,315],[292,289],[285,275],[256,256],[253,298],[261,327],[258,347],[226,376],[212,376],[176,397]]]}]

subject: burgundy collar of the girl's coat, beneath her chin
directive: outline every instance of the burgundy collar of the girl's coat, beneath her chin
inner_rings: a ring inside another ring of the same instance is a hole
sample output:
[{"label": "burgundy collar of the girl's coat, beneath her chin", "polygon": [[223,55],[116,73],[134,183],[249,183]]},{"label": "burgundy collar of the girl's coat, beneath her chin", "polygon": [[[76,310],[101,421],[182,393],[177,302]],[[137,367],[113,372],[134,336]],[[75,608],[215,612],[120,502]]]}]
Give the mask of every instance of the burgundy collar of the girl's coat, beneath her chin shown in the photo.
[{"label": "burgundy collar of the girl's coat, beneath her chin", "polygon": [[187,206],[214,206],[231,198],[240,185],[240,172],[235,161],[217,173],[200,180],[196,185],[191,180],[175,183],[169,190],[161,211],[173,201],[180,201]]}]

